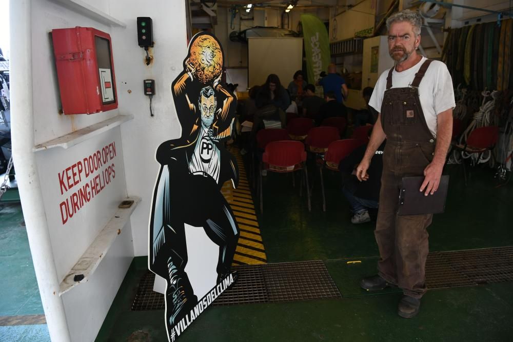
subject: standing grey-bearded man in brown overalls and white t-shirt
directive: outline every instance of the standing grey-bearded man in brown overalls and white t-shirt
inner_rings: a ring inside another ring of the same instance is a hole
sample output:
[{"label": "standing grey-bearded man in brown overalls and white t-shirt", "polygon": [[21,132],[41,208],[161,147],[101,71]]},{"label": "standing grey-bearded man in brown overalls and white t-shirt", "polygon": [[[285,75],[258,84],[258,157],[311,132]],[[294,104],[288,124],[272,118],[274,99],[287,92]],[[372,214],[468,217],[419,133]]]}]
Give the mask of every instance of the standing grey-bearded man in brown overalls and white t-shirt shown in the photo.
[{"label": "standing grey-bearded man in brown overalls and white t-shirt", "polygon": [[360,181],[376,149],[387,138],[376,225],[380,251],[378,274],[362,279],[361,287],[373,291],[388,286],[403,290],[398,313],[410,318],[419,312],[426,292],[427,227],[432,214],[399,216],[398,198],[403,176],[424,176],[419,191],[438,190],[452,134],[455,107],[452,81],[445,64],[417,54],[421,18],[405,10],[387,19],[388,48],[396,61],[385,71],[369,105],[380,112],[362,162]]}]

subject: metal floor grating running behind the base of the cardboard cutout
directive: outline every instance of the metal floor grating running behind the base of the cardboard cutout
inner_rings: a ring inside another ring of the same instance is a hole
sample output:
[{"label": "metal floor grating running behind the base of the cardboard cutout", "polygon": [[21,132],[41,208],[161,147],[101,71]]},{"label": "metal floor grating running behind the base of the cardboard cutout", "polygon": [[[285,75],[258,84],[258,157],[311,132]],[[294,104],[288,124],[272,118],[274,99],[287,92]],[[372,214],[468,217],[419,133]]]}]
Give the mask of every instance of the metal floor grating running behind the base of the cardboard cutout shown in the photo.
[{"label": "metal floor grating running behind the base of the cardboard cutout", "polygon": [[[232,267],[238,280],[212,305],[279,303],[283,301],[340,298],[340,292],[323,261],[302,261]],[[137,289],[131,311],[164,310],[164,295],[153,291],[155,275],[148,271]]]}]

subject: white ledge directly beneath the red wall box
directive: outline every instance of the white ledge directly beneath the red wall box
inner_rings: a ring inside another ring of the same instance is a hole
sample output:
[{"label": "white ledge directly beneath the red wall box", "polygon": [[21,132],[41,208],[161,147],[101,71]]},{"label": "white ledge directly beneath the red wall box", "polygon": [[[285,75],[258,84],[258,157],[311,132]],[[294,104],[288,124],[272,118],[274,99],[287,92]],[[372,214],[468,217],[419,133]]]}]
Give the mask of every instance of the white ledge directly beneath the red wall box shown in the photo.
[{"label": "white ledge directly beneath the red wall box", "polygon": [[84,142],[85,140],[96,136],[98,134],[102,134],[114,127],[120,126],[121,124],[127,122],[128,120],[133,119],[133,115],[116,115],[110,119],[104,120],[100,123],[84,127],[77,131],[71,132],[69,134],[57,137],[55,139],[49,140],[46,143],[39,144],[34,146],[34,152],[47,150],[53,147],[62,147],[62,148],[70,148],[77,144]]}]

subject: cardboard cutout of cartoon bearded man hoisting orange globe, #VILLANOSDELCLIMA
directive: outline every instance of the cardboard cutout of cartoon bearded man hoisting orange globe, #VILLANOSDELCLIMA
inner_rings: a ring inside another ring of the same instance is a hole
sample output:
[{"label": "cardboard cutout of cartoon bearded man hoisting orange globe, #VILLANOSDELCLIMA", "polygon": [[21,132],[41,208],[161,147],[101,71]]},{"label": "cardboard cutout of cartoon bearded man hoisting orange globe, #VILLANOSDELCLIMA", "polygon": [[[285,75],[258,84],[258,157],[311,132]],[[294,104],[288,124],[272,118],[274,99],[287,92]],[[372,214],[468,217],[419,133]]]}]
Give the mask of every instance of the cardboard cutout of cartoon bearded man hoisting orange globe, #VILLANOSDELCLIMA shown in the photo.
[{"label": "cardboard cutout of cartoon bearded man hoisting orange globe, #VILLANOSDELCLIMA", "polygon": [[[192,37],[184,70],[171,86],[182,136],[162,143],[156,152],[161,169],[153,193],[148,263],[152,272],[167,280],[166,325],[170,340],[234,278],[230,267],[239,227],[221,187],[227,180],[232,181],[233,187],[239,182],[236,160],[223,144],[234,126],[236,97],[220,83],[223,57],[219,41],[210,33],[200,32]],[[200,301],[185,266],[187,253],[202,247],[187,244],[185,224],[203,227],[219,246],[217,286]]]}]

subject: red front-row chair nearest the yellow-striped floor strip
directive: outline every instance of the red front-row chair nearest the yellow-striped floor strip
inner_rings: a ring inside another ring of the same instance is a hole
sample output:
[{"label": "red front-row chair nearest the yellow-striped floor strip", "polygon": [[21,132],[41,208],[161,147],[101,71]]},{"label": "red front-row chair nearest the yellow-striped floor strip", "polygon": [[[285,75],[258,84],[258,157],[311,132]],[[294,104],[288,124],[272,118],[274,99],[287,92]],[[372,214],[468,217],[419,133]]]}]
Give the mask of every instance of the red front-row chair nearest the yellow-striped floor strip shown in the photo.
[{"label": "red front-row chair nearest the yellow-striped floor strip", "polygon": [[[306,194],[308,200],[308,211],[311,211],[310,206],[310,188],[308,186],[308,171],[306,169],[306,152],[305,146],[301,142],[281,140],[272,142],[265,147],[264,155],[262,156],[262,164],[260,167],[260,212],[264,212],[263,200],[263,187],[262,187],[262,171],[267,170],[270,172],[287,173],[298,170],[303,170],[303,175],[306,182]],[[301,182],[300,195],[303,188]]]}]

